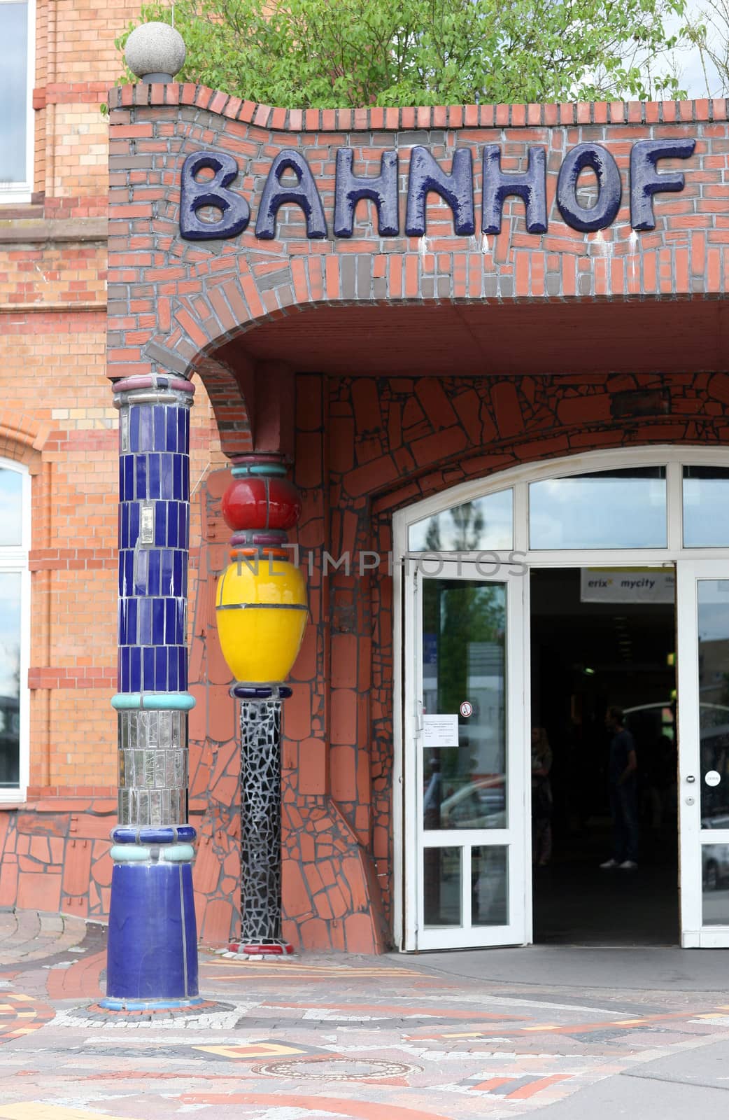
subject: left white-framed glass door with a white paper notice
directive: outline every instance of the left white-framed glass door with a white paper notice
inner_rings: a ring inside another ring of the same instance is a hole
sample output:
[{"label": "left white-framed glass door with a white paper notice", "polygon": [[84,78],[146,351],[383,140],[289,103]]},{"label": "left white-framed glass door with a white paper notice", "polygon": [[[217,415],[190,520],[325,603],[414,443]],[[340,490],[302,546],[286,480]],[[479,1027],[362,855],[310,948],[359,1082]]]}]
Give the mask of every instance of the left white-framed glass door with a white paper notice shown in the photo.
[{"label": "left white-framed glass door with a white paper notice", "polygon": [[493,577],[464,561],[411,566],[404,948],[523,944],[527,580],[508,564]]}]

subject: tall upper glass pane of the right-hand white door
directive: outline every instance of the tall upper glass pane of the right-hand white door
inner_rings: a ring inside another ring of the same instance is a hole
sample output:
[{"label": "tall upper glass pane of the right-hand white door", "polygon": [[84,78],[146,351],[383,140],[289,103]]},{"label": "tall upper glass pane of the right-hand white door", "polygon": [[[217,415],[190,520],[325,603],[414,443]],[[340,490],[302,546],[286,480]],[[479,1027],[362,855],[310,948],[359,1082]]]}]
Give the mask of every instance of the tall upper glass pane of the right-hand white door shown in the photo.
[{"label": "tall upper glass pane of the right-hand white door", "polygon": [[700,579],[698,599],[701,825],[722,829],[729,828],[729,579]]}]

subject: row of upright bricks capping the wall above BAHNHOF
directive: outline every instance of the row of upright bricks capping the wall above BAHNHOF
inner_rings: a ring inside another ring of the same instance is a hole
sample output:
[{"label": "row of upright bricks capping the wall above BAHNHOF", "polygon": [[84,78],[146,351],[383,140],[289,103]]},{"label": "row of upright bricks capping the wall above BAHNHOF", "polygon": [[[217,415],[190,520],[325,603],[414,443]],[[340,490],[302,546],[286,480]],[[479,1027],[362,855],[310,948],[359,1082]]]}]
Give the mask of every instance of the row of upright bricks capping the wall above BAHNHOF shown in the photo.
[{"label": "row of upright bricks capping the wall above BAHNHOF", "polygon": [[694,101],[579,101],[526,105],[421,105],[383,109],[274,109],[206,85],[122,85],[109,108],[195,105],[232,121],[282,132],[357,132],[370,129],[534,128],[559,124],[663,124],[726,121],[727,99]]}]

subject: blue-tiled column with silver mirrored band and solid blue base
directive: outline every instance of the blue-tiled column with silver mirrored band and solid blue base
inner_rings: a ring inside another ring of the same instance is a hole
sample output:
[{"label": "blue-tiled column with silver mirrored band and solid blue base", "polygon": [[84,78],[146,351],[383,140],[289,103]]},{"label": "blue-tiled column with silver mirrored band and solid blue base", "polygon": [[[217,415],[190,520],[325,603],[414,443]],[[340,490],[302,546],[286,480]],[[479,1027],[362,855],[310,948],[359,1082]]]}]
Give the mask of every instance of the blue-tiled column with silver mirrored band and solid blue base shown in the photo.
[{"label": "blue-tiled column with silver mirrored band and solid blue base", "polygon": [[187,559],[193,385],[116,381],[119,409],[119,825],[106,998],[115,1010],[197,998],[187,823]]}]

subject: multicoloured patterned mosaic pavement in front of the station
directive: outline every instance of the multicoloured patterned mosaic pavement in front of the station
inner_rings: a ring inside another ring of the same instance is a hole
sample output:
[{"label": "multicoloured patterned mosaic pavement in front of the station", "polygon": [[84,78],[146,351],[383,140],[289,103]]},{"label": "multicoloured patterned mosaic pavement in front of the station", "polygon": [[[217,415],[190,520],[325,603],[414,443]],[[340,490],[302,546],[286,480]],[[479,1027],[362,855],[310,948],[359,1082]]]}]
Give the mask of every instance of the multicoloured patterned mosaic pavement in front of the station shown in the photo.
[{"label": "multicoloured patterned mosaic pavement in front of the station", "polygon": [[215,1010],[100,1023],[102,933],[54,924],[0,913],[0,1120],[517,1117],[656,1058],[729,1056],[721,992],[505,984],[426,956],[204,953]]}]

